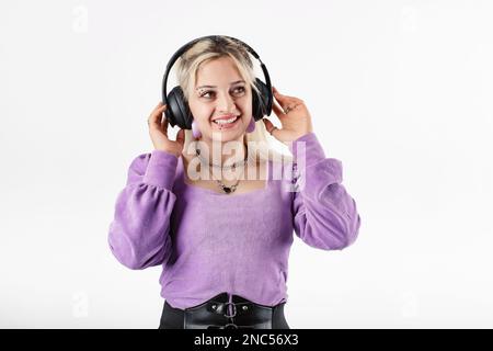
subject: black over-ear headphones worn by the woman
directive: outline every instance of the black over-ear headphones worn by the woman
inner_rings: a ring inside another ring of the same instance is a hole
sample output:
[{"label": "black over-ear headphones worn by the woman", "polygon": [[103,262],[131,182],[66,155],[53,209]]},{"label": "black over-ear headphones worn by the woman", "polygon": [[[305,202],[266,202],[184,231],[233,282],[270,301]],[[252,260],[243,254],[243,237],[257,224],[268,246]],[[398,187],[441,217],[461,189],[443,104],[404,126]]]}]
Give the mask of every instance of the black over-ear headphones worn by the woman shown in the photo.
[{"label": "black over-ear headphones worn by the woman", "polygon": [[[259,88],[261,95],[259,97],[256,92],[252,89],[252,114],[253,118],[260,121],[264,115],[271,115],[272,112],[272,88],[271,88],[271,78],[268,77],[267,68],[260,59],[259,55],[245,43],[241,42],[231,36],[227,35],[207,35],[198,37],[187,44],[183,45],[170,59],[167,66],[167,71],[162,79],[162,102],[167,105],[167,110],[164,111],[164,115],[168,118],[171,126],[177,125],[182,129],[192,129],[193,115],[190,111],[188,103],[185,101],[185,95],[183,94],[183,90],[180,86],[174,87],[170,93],[167,95],[167,81],[168,75],[170,73],[171,67],[176,61],[176,59],[183,55],[188,48],[191,48],[195,43],[205,38],[211,38],[216,43],[220,43],[223,38],[230,38],[236,43],[244,46],[250,54],[252,54],[260,63],[262,67],[262,71],[264,72],[265,83],[262,82],[259,78],[255,78],[255,86]],[[260,98],[260,99],[259,99]]]}]

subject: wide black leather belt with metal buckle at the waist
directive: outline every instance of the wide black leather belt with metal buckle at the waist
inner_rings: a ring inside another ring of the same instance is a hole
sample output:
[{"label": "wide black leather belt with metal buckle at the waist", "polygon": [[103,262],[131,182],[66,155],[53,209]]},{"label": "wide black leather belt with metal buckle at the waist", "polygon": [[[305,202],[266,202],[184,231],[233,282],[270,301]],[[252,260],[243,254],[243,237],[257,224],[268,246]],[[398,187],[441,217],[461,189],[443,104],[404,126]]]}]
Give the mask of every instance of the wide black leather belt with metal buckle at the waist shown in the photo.
[{"label": "wide black leather belt with metal buckle at the waist", "polygon": [[[272,329],[273,316],[282,316],[285,303],[276,306],[255,304],[242,296],[221,293],[205,303],[185,308],[185,329]],[[279,310],[280,309],[280,310]]]}]

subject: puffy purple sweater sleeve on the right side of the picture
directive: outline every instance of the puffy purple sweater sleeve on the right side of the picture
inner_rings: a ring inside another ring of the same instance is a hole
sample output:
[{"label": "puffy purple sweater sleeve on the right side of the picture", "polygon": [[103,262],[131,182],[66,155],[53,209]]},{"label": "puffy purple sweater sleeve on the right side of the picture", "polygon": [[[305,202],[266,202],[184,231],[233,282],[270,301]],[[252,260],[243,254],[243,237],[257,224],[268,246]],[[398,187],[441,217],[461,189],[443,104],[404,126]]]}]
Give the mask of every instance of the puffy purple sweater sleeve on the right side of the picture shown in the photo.
[{"label": "puffy purple sweater sleeve on the right side of the picture", "polygon": [[[342,250],[358,235],[360,218],[342,183],[342,162],[325,158],[314,133],[290,143],[296,235],[311,247]],[[302,152],[305,150],[305,152]],[[302,154],[301,154],[302,152]]]}]

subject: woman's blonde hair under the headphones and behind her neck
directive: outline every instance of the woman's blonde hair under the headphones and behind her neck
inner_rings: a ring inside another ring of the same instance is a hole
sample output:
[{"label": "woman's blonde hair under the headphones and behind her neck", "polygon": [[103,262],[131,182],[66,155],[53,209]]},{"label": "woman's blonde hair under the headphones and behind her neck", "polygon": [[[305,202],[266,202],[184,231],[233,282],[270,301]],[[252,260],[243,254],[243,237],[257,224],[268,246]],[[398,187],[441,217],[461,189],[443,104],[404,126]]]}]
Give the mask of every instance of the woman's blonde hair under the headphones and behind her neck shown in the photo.
[{"label": "woman's blonde hair under the headphones and behind her neck", "polygon": [[[199,66],[221,57],[230,57],[242,79],[252,88],[252,94],[260,95],[259,88],[254,83],[255,72],[248,49],[229,37],[220,36],[219,41],[213,41],[211,38],[198,41],[176,60],[174,65],[175,76],[186,101],[188,101],[195,87]],[[255,131],[245,133],[245,138],[246,143],[251,141],[251,144],[248,144],[249,146],[254,146],[249,151],[260,160],[283,160],[283,162],[293,160],[293,155],[287,146],[274,139],[261,120],[255,122]],[[185,129],[184,150],[194,140],[192,131]]]}]

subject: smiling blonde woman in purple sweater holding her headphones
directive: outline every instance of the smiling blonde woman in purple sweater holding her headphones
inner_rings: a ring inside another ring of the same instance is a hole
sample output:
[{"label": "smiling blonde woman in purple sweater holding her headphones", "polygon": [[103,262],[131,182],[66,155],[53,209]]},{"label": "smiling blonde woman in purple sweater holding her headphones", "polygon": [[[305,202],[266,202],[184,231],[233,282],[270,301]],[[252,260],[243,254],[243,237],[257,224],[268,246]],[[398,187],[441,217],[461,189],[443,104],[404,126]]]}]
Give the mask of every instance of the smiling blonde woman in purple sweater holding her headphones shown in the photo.
[{"label": "smiling blonde woman in purple sweater holding her headphones", "polygon": [[[274,88],[282,127],[253,118],[255,94],[265,91],[238,42],[204,37],[180,56],[192,131],[171,140],[169,117],[161,122],[168,105],[156,106],[148,118],[154,149],[131,162],[110,227],[124,265],[162,265],[163,329],[287,329],[293,231],[322,250],[341,250],[358,234],[342,165],[325,158],[303,101]],[[293,177],[276,177],[279,169]]]}]

